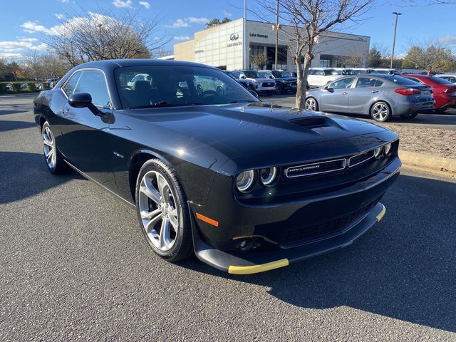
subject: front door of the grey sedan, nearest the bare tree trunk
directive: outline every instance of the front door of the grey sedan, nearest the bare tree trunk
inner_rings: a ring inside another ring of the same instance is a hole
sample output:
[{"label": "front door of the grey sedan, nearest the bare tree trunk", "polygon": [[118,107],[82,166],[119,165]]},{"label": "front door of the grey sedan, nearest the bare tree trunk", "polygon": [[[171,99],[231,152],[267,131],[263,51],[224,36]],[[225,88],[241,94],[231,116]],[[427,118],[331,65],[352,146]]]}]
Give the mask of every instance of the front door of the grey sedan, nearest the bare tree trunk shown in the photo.
[{"label": "front door of the grey sedan, nearest the bare tree trunk", "polygon": [[328,84],[326,90],[321,90],[320,110],[327,112],[346,112],[348,110],[348,95],[355,77],[339,78]]}]

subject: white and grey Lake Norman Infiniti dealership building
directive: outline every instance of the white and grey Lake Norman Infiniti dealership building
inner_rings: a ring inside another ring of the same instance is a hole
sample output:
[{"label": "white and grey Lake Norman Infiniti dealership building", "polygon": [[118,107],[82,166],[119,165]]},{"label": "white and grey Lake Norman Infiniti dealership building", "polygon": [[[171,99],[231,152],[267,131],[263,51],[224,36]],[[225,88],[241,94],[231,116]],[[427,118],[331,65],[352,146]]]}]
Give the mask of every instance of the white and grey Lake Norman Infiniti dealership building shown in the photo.
[{"label": "white and grey Lake Norman Infiniti dealership building", "polygon": [[[276,31],[273,26],[260,21],[237,19],[202,31],[195,37],[176,43],[173,58],[192,61],[227,70],[256,69],[254,56],[263,54],[266,69],[275,68]],[[277,69],[296,71],[292,58],[291,26],[280,26]],[[364,67],[367,63],[371,38],[348,33],[328,32],[318,36],[313,67],[344,67],[346,61],[358,61],[351,67]],[[348,59],[347,57],[351,58]],[[353,58],[356,57],[356,58]],[[245,58],[245,60],[244,60]],[[245,63],[245,67],[244,67]]]}]

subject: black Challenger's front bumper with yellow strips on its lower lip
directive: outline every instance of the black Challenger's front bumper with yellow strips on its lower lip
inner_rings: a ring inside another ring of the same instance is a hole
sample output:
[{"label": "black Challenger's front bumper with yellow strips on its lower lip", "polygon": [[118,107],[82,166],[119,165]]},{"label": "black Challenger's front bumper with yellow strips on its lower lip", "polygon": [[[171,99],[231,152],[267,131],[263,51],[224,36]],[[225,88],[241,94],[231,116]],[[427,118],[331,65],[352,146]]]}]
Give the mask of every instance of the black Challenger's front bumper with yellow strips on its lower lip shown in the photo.
[{"label": "black Challenger's front bumper with yellow strips on its lower lip", "polygon": [[[353,185],[281,204],[246,206],[217,196],[204,207],[189,202],[195,254],[222,271],[246,274],[345,247],[383,217],[379,201],[398,177],[400,166],[396,157],[380,172]],[[219,221],[208,221],[209,217]],[[328,229],[334,222],[338,222],[336,229]],[[324,234],[309,235],[314,229]],[[242,239],[259,239],[261,248],[237,252],[234,247]]]}]

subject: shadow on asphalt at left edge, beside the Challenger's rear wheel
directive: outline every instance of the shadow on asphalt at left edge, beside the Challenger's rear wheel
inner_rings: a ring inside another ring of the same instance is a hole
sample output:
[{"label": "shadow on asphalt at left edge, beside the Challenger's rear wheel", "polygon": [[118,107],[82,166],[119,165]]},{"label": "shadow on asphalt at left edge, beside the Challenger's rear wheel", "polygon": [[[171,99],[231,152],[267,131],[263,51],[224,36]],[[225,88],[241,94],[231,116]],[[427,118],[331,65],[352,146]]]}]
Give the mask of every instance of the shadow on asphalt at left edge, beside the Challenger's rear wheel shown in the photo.
[{"label": "shadow on asphalt at left edge, beside the Challenger's rear wheel", "polygon": [[32,197],[75,177],[76,172],[51,175],[41,154],[0,151],[0,204]]}]

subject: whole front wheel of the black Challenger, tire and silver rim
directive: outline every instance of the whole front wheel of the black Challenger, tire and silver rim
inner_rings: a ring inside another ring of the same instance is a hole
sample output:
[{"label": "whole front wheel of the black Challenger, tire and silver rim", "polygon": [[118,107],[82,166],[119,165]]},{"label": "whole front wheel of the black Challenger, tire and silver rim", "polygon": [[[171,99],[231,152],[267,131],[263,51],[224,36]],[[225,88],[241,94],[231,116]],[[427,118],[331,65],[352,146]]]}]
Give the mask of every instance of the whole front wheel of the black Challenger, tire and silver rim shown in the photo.
[{"label": "whole front wheel of the black Challenger, tire and silver rim", "polygon": [[156,254],[168,261],[190,257],[187,199],[175,172],[161,160],[142,165],[136,182],[136,208],[142,233]]}]

